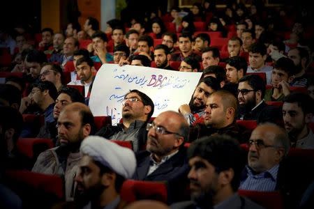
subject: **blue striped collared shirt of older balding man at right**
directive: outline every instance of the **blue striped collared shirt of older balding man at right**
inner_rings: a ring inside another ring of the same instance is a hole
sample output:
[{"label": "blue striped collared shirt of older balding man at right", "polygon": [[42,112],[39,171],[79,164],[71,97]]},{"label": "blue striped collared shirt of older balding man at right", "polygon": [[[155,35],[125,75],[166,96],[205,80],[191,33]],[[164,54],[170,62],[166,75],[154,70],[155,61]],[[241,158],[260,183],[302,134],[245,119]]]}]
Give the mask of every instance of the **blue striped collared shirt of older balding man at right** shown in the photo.
[{"label": "blue striped collared shirt of older balding man at right", "polygon": [[271,192],[276,189],[279,164],[262,173],[254,174],[252,169],[246,166],[246,178],[241,180],[239,189]]}]

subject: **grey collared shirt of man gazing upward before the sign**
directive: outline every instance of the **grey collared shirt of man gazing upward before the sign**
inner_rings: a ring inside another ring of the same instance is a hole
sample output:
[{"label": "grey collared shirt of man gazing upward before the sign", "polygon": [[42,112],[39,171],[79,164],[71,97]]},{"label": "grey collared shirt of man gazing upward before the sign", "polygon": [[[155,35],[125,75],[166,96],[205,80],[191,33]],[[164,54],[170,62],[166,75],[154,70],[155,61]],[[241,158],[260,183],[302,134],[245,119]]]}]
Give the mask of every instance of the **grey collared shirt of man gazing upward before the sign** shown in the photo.
[{"label": "grey collared shirt of man gazing upward before the sign", "polygon": [[[121,127],[121,131],[115,133],[109,139],[119,140],[119,141],[132,141],[133,142],[133,150],[136,152],[140,148],[139,141],[138,141],[138,132],[140,127],[144,124],[144,121],[134,121],[130,123],[128,128]],[[118,124],[123,126],[121,124]]]}]

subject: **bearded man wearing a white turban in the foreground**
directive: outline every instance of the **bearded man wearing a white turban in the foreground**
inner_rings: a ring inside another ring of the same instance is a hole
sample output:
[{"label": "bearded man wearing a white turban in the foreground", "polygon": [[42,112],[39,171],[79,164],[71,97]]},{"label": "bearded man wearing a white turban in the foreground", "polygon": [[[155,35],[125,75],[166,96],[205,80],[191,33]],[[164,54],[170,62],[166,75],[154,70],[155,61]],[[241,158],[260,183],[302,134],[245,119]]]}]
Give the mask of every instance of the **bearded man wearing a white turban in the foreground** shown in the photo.
[{"label": "bearded man wearing a white turban in the foreground", "polygon": [[75,203],[84,208],[124,208],[119,193],[124,180],[131,178],[136,160],[132,150],[103,137],[87,137],[80,151],[80,172],[75,176]]}]

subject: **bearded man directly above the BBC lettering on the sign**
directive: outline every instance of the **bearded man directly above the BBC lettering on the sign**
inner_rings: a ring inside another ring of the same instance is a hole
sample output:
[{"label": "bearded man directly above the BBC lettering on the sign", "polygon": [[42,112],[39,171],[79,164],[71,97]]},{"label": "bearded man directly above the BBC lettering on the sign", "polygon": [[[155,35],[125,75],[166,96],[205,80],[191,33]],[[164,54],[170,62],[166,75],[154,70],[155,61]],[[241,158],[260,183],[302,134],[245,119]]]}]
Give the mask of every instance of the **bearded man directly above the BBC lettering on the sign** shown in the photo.
[{"label": "bearded man directly above the BBC lettering on the sign", "polygon": [[154,50],[154,61],[156,68],[165,70],[174,70],[170,67],[171,54],[170,50],[166,45],[157,45]]}]

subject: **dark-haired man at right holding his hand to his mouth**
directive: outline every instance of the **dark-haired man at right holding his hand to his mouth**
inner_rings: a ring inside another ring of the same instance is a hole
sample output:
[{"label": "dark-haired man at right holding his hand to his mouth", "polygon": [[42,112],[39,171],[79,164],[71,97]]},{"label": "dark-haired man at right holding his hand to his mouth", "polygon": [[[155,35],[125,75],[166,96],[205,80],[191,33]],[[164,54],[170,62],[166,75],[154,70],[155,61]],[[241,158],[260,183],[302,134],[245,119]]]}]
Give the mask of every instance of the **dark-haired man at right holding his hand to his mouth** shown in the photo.
[{"label": "dark-haired man at right holding his hand to his mouth", "polygon": [[265,101],[283,101],[290,94],[290,82],[294,79],[295,68],[292,60],[282,57],[276,61],[271,72],[271,86],[265,91]]}]

